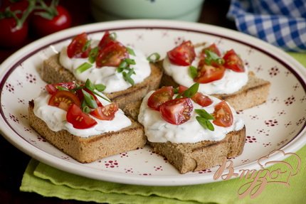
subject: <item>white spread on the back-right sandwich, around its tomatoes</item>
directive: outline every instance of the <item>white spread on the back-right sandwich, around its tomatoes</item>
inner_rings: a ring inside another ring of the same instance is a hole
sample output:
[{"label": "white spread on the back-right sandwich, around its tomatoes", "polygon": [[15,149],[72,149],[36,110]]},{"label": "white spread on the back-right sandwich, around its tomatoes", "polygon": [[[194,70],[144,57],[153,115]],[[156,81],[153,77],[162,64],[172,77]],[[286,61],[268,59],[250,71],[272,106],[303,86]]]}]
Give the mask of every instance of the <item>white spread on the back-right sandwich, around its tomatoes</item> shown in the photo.
[{"label": "white spread on the back-right sandwich, around its tomatoes", "polygon": [[[192,66],[197,67],[199,58],[191,63]],[[171,76],[176,83],[190,87],[194,84],[194,80],[189,75],[189,66],[174,65],[170,62],[168,56],[164,58],[163,67],[165,73]],[[246,66],[245,66],[246,68]],[[221,80],[216,80],[209,83],[201,83],[199,92],[207,95],[213,94],[231,94],[241,89],[248,82],[248,70],[243,73],[237,73],[233,70],[226,69]]]}]

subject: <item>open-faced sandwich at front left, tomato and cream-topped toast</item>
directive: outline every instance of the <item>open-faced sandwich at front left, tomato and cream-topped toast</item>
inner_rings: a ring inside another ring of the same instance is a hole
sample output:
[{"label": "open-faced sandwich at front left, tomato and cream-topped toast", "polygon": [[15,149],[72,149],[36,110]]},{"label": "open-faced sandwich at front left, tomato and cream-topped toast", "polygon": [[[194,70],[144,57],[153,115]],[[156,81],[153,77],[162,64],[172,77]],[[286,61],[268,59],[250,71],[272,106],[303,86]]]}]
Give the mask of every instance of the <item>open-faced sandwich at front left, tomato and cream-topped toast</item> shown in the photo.
[{"label": "open-faced sandwich at front left, tomato and cream-topped toast", "polygon": [[90,80],[46,85],[29,102],[29,122],[53,146],[82,163],[146,144],[143,127],[125,116]]}]

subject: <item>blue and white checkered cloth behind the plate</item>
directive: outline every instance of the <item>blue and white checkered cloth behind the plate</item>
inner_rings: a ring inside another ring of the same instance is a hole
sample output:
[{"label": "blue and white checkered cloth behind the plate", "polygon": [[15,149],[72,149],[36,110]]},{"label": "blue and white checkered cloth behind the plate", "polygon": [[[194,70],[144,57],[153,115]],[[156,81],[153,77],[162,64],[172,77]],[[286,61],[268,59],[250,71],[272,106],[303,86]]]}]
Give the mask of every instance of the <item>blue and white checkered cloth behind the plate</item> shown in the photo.
[{"label": "blue and white checkered cloth behind the plate", "polygon": [[227,16],[243,33],[306,52],[306,0],[231,0]]}]

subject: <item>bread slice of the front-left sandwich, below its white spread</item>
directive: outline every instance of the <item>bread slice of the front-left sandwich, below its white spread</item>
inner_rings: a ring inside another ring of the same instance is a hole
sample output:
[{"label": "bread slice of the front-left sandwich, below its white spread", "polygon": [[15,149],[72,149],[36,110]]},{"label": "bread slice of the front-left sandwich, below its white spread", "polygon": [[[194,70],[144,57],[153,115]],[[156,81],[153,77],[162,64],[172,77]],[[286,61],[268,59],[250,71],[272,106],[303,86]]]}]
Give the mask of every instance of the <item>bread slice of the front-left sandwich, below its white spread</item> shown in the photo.
[{"label": "bread slice of the front-left sandwich, below its white spread", "polygon": [[111,131],[87,138],[75,136],[66,130],[52,131],[33,112],[34,102],[29,102],[28,119],[31,127],[48,142],[81,163],[90,163],[107,156],[141,148],[147,143],[141,124],[132,120],[132,125],[120,131]]}]

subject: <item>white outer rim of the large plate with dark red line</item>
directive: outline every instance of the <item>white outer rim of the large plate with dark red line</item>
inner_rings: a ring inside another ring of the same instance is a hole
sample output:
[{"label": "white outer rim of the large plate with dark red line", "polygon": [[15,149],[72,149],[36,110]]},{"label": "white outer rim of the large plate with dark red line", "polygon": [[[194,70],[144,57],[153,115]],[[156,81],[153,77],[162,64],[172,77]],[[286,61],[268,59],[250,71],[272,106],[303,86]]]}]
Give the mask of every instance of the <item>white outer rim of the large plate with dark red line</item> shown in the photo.
[{"label": "white outer rim of the large plate with dark red line", "polygon": [[[132,29],[160,29],[160,30],[175,30],[175,31],[187,31],[191,33],[205,33],[213,36],[219,36],[221,38],[226,38],[236,43],[243,45],[248,45],[250,48],[258,50],[260,53],[264,53],[269,58],[278,61],[283,65],[287,70],[292,73],[302,89],[306,90],[306,69],[300,65],[294,58],[287,55],[278,48],[275,48],[273,45],[265,43],[247,36],[243,33],[237,31],[231,31],[226,28],[220,28],[216,26],[210,26],[201,23],[189,23],[181,21],[157,21],[157,20],[128,20],[128,21],[110,21],[105,23],[93,23],[85,26],[78,26],[75,28],[70,28],[65,31],[60,31],[54,33],[51,36],[46,36],[39,39],[26,47],[21,48],[16,53],[11,55],[4,63],[1,64],[0,68],[0,87],[1,92],[3,92],[6,80],[14,72],[14,70],[27,58],[29,58],[34,53],[39,52],[47,48],[52,44],[56,44],[61,41],[68,40],[69,38],[75,36],[76,34],[86,31],[87,33],[100,33],[106,30],[112,31],[122,31],[122,30],[132,30]],[[117,183],[127,183],[127,184],[137,184],[137,185],[146,185],[146,186],[181,186],[181,185],[191,185],[199,183],[211,183],[216,182],[213,180],[213,173],[206,173],[204,175],[194,175],[194,174],[185,174],[185,175],[174,175],[174,176],[137,176],[137,175],[125,175],[122,173],[112,172],[112,171],[99,171],[97,169],[90,168],[88,166],[83,166],[81,163],[70,163],[63,159],[60,159],[52,154],[48,154],[39,149],[33,144],[29,143],[23,136],[14,130],[14,127],[8,122],[6,115],[2,109],[2,95],[0,96],[1,103],[1,134],[9,141],[11,144],[16,146],[21,151],[25,152],[29,156],[32,156],[34,159],[46,163],[55,168],[59,168],[63,171],[68,171],[70,173],[75,173],[80,176],[85,176],[88,178],[95,178],[102,181],[112,181]],[[280,146],[285,152],[295,152],[298,149],[302,148],[306,144],[306,135],[305,135],[305,126],[306,122],[303,121],[302,127],[295,133],[295,136],[292,136],[290,141],[286,141],[283,146]],[[273,160],[283,160],[286,156],[281,154],[272,154],[270,159]],[[235,171],[241,169],[259,169],[257,161],[252,161],[241,166],[237,166]],[[220,181],[220,180],[217,180]]]}]

